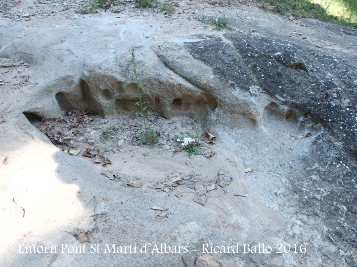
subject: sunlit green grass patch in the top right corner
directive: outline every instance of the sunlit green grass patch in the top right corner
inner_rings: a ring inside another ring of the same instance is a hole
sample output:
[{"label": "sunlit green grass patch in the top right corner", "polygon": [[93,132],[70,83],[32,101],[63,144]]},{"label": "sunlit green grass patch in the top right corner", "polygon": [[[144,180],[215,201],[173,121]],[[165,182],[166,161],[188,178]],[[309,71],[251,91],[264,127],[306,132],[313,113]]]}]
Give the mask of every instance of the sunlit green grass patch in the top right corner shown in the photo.
[{"label": "sunlit green grass patch in the top right corner", "polygon": [[263,9],[357,28],[357,0],[260,0]]}]

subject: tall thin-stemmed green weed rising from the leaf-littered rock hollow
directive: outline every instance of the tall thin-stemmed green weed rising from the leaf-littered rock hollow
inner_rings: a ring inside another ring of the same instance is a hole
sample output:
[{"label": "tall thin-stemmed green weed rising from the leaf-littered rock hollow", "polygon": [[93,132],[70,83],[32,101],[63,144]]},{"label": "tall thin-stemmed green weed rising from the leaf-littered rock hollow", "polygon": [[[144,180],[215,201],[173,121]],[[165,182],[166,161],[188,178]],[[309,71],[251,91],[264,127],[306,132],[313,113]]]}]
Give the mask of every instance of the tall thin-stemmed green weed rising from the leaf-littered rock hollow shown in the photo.
[{"label": "tall thin-stemmed green weed rising from the leaf-littered rock hollow", "polygon": [[[146,145],[151,145],[154,146],[155,143],[159,142],[159,138],[157,138],[157,133],[154,130],[150,129],[150,125],[146,124],[146,112],[147,112],[147,108],[148,106],[146,106],[147,103],[149,103],[149,101],[144,101],[142,99],[142,97],[145,94],[145,91],[142,89],[142,83],[139,80],[139,73],[137,70],[137,66],[139,64],[139,62],[136,61],[135,59],[135,48],[134,46],[132,46],[131,48],[131,64],[132,64],[132,72],[134,74],[134,76],[131,76],[131,79],[134,80],[135,84],[136,84],[136,93],[137,96],[139,98],[139,101],[137,101],[135,103],[135,105],[139,106],[140,108],[140,112],[137,112],[138,115],[140,115],[140,117],[142,117],[142,121],[144,122],[144,129],[145,129],[145,135],[144,135],[144,139],[139,140],[140,143],[146,144]],[[142,72],[141,72],[142,73]]]}]

